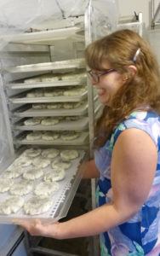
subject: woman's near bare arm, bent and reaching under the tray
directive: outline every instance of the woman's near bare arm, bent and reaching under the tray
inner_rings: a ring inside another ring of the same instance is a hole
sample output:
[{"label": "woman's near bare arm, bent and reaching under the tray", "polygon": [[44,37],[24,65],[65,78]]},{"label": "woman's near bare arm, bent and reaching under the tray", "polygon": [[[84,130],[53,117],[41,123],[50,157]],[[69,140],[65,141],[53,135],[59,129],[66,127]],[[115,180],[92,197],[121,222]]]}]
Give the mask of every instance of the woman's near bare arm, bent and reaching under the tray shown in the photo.
[{"label": "woman's near bare arm, bent and reaching under the tray", "polygon": [[111,204],[64,223],[19,222],[31,235],[58,239],[94,236],[132,218],[146,201],[157,167],[157,148],[145,131],[128,129],[117,138],[111,160]]}]

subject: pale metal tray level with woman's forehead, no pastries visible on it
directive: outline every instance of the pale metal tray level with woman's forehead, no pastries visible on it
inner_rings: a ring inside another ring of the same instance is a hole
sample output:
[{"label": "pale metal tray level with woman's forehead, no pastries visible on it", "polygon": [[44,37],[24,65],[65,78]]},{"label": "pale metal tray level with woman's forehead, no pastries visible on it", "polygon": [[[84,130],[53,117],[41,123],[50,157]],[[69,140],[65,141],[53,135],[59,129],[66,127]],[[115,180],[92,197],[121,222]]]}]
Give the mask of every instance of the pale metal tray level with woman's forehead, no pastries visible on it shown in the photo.
[{"label": "pale metal tray level with woman's forehead, no pastries visible on it", "polygon": [[84,68],[85,61],[83,58],[68,60],[68,61],[54,61],[43,62],[37,64],[21,65],[15,67],[4,67],[3,70],[9,73],[31,73],[38,71],[61,70],[71,68]]}]

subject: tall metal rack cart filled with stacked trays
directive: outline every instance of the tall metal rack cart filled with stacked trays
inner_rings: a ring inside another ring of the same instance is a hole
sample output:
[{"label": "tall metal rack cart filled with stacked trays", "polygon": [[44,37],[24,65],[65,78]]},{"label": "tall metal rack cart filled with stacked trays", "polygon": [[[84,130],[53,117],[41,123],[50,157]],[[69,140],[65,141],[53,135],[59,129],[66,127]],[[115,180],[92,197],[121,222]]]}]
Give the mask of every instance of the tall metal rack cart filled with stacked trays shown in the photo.
[{"label": "tall metal rack cart filled with stacked trays", "polygon": [[[19,160],[27,148],[77,149],[79,156],[72,161],[65,180],[60,182],[60,189],[54,193],[52,198],[54,203],[48,212],[29,216],[20,210],[18,213],[0,215],[1,223],[11,224],[14,218],[26,218],[28,221],[40,218],[43,223],[49,223],[53,219],[58,221],[60,218],[66,217],[82,178],[83,170],[78,170],[77,166],[93,155],[94,117],[99,113],[101,106],[93,87],[89,84],[89,79],[87,79],[83,59],[83,49],[92,40],[91,13],[92,8],[89,5],[83,15],[83,20],[80,17],[80,22],[77,25],[71,17],[66,20],[66,27],[42,32],[26,32],[5,38],[9,44],[4,47],[1,58],[0,92],[3,99],[9,147],[13,157],[3,166],[3,171],[14,164],[14,161]],[[75,20],[77,19],[75,18]],[[65,47],[63,42],[67,42],[67,44],[69,42],[71,47],[67,56],[60,55],[60,47]],[[62,46],[58,47],[59,44]],[[58,79],[49,80],[48,74],[54,75]],[[46,79],[45,82],[44,79]],[[55,92],[56,96],[43,96],[44,88],[48,89],[47,93]],[[75,96],[56,94],[58,90],[66,91],[72,88],[81,90]],[[37,92],[37,96],[34,95],[35,92]],[[69,109],[32,108],[36,104],[50,105],[54,103],[61,105],[74,103],[78,107]],[[66,121],[66,116],[80,119]],[[25,125],[25,121],[28,119],[42,117],[63,119],[60,119],[56,125]],[[79,137],[71,141],[64,141],[61,137],[47,141],[44,141],[42,137],[37,140],[27,139],[28,135],[36,134],[38,131],[43,131],[43,133],[59,131],[60,134],[63,134],[64,131],[77,131]],[[24,168],[24,172],[27,171],[26,169]],[[21,178],[19,177],[19,179]],[[38,179],[36,184],[41,181],[41,178]],[[1,195],[1,198],[5,198],[8,194]],[[32,192],[24,196],[24,200],[26,201],[31,196]],[[76,256],[38,247],[35,243],[37,240],[34,241],[27,232],[25,232],[25,236],[28,255],[43,253],[45,255]],[[97,256],[98,248],[94,248],[91,255]]]}]

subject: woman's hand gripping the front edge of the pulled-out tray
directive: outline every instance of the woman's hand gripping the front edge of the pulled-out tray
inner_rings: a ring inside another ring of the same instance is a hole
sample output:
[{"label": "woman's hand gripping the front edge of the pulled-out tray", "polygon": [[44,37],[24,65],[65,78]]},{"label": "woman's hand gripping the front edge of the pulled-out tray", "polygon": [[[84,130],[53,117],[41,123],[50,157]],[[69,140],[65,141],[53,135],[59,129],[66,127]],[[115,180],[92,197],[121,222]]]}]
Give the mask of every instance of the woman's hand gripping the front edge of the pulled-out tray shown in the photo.
[{"label": "woman's hand gripping the front edge of the pulled-out tray", "polygon": [[25,220],[15,220],[14,224],[18,224],[26,229],[31,236],[47,236],[47,237],[56,237],[57,226],[59,223],[54,224],[42,224],[40,219],[36,219],[34,223],[29,223]]}]

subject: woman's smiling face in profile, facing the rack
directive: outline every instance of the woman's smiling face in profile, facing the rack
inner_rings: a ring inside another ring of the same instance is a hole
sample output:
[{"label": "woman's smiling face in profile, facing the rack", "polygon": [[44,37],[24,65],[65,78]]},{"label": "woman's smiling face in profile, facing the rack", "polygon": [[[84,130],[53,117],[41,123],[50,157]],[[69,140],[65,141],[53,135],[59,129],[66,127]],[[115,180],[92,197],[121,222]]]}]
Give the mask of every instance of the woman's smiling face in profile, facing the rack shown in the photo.
[{"label": "woman's smiling face in profile, facing the rack", "polygon": [[97,90],[100,102],[106,106],[111,107],[112,97],[117,93],[117,90],[119,90],[123,86],[124,79],[123,75],[117,73],[117,71],[115,70],[112,70],[110,73],[104,74],[105,71],[111,70],[111,67],[109,67],[109,65],[104,66],[103,70],[104,71],[102,72],[92,70],[92,73],[97,74],[99,76],[99,79],[98,81],[95,81],[92,78],[91,83],[95,86]]}]

